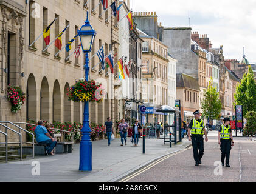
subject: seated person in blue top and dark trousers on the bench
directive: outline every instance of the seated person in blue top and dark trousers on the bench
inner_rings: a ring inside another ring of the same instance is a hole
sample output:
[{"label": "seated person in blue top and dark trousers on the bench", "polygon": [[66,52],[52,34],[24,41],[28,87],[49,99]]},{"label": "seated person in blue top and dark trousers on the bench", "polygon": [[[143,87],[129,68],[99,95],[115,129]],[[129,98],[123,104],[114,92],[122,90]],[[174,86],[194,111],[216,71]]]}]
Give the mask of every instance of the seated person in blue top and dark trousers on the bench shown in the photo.
[{"label": "seated person in blue top and dark trousers on the bench", "polygon": [[49,156],[49,154],[54,155],[54,147],[57,144],[57,141],[55,141],[52,136],[47,132],[46,127],[43,126],[43,121],[38,121],[38,126],[35,129],[35,135],[36,135],[36,142],[38,144],[46,144],[46,154]]}]

